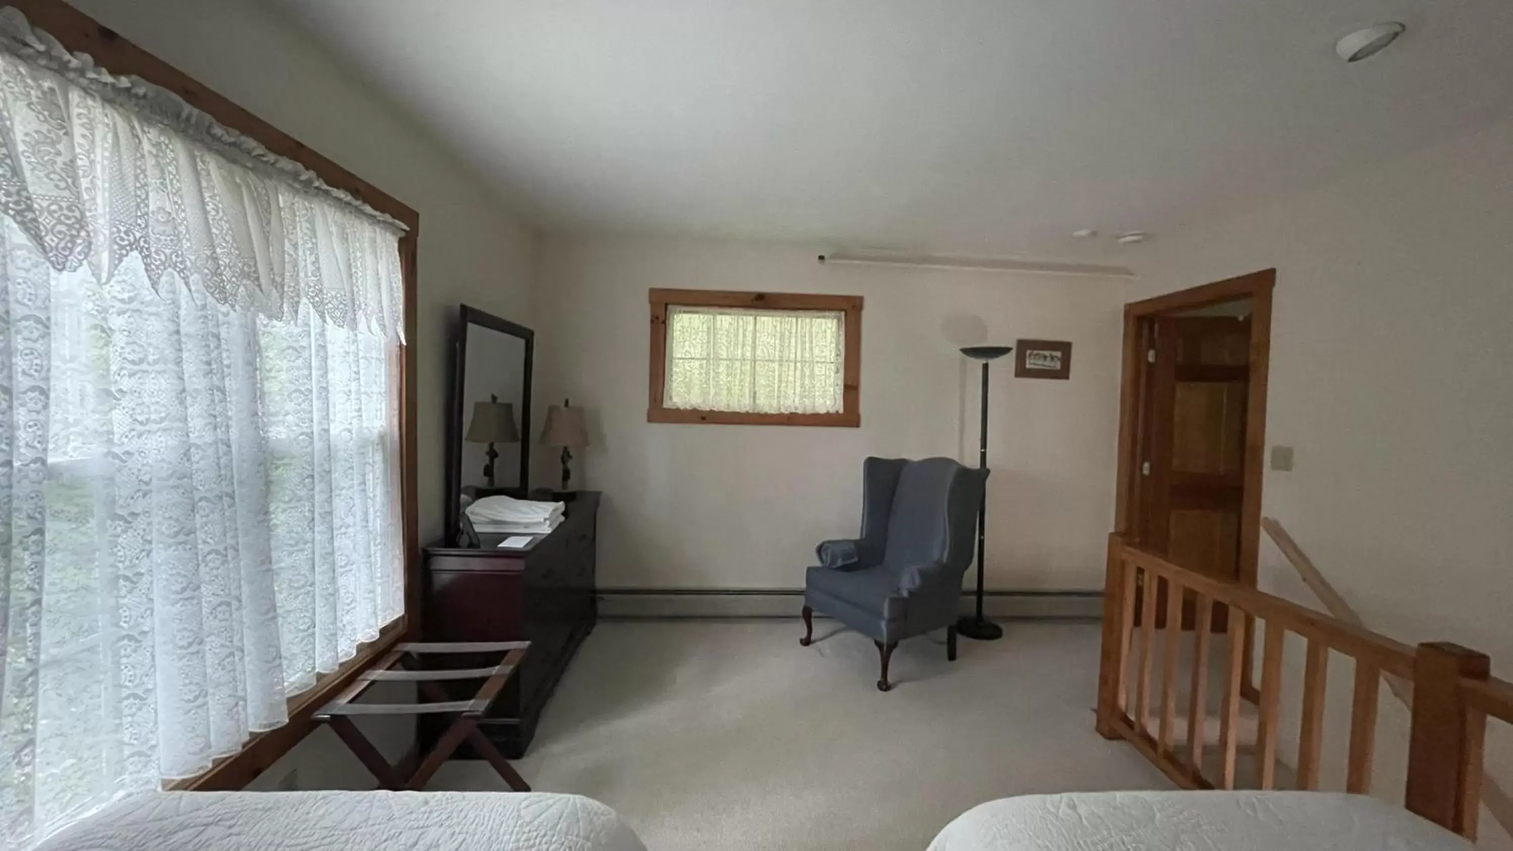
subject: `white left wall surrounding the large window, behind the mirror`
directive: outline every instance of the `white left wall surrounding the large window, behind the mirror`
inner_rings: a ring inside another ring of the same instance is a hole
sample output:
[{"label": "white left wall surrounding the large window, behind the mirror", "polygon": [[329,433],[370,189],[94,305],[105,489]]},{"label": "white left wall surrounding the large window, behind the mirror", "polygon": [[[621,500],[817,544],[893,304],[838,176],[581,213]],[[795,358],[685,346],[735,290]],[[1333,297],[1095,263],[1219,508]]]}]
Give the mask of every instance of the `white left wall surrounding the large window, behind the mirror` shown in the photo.
[{"label": "white left wall surrounding the large window, behind the mirror", "polygon": [[[257,3],[71,3],[421,213],[419,328],[412,340],[419,357],[421,538],[437,537],[451,316],[466,301],[528,325],[534,234],[430,136]],[[363,724],[390,756],[409,747],[405,724]],[[372,788],[327,730],[289,751],[256,786],[271,788],[290,769],[304,788]]]}]

